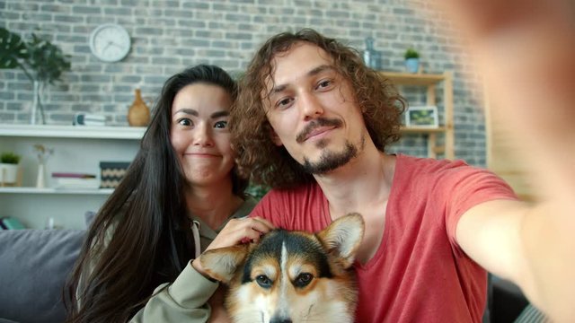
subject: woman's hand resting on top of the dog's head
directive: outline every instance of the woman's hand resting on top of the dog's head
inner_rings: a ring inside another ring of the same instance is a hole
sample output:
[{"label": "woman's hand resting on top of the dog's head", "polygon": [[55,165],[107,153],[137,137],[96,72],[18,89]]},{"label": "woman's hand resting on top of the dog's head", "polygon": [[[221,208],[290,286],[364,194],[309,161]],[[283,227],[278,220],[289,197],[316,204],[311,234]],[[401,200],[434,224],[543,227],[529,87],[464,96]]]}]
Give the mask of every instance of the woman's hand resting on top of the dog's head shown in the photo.
[{"label": "woman's hand resting on top of the dog's head", "polygon": [[[209,244],[205,251],[210,249],[231,247],[238,243],[245,243],[250,241],[258,242],[261,235],[268,233],[273,229],[275,229],[275,226],[272,223],[259,216],[232,219],[226,224],[224,229],[219,232],[216,239],[214,239],[212,243]],[[191,266],[193,266],[194,269],[199,272],[199,274],[209,277],[209,275],[201,266],[199,258],[194,259],[191,262]]]}]

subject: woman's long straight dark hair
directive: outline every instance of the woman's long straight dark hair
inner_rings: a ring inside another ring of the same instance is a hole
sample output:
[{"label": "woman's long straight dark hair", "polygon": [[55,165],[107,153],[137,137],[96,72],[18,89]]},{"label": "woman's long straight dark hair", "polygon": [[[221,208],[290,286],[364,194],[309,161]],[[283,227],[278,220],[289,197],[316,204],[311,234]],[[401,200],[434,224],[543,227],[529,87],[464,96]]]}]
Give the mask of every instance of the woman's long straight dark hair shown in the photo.
[{"label": "woman's long straight dark hair", "polygon": [[[170,142],[173,99],[190,83],[215,84],[235,100],[236,83],[214,65],[188,68],[164,83],[140,149],[87,231],[66,282],[68,322],[128,321],[159,284],[173,283],[193,258],[187,184]],[[232,177],[234,194],[243,196],[247,180],[235,170]],[[107,238],[111,225],[115,230]],[[107,246],[104,240],[110,240]]]}]

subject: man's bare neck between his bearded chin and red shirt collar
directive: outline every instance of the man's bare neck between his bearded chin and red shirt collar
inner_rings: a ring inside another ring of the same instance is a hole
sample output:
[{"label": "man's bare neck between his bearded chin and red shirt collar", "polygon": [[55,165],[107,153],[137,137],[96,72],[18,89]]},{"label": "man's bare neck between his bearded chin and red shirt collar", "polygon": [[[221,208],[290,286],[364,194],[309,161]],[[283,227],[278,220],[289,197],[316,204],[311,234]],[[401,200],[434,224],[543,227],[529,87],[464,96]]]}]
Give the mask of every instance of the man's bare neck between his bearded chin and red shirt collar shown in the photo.
[{"label": "man's bare neck between his bearded chin and red shirt collar", "polygon": [[329,174],[315,175],[330,204],[332,219],[381,207],[391,192],[395,156],[367,146],[357,158]]}]

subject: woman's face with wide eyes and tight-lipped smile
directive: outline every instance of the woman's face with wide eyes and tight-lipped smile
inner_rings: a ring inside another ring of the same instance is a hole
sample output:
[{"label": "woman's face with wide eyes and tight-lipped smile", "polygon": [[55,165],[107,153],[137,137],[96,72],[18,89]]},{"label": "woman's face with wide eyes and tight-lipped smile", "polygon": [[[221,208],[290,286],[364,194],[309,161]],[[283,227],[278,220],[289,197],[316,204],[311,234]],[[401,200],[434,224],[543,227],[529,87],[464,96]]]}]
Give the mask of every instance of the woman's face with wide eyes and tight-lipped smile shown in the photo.
[{"label": "woman's face with wide eyes and tight-lipped smile", "polygon": [[226,90],[213,84],[193,83],[176,93],[170,140],[194,187],[231,179],[234,152],[227,127],[231,105]]}]

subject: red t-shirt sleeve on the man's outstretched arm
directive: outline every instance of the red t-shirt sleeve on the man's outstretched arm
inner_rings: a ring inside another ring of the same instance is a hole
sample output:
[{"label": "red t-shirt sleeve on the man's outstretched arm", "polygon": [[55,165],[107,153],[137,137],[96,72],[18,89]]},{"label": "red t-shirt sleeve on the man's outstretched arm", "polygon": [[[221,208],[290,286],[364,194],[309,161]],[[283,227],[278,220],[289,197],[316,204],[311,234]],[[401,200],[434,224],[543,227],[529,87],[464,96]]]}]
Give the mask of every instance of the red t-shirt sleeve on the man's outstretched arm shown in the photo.
[{"label": "red t-shirt sleeve on the man's outstretched arm", "polygon": [[456,242],[457,223],[467,210],[492,200],[517,200],[513,189],[489,170],[465,165],[447,170],[444,175],[443,183],[438,187],[445,190],[441,196],[446,196],[444,203],[447,236],[456,249],[460,249]]}]

